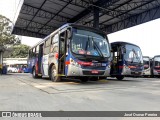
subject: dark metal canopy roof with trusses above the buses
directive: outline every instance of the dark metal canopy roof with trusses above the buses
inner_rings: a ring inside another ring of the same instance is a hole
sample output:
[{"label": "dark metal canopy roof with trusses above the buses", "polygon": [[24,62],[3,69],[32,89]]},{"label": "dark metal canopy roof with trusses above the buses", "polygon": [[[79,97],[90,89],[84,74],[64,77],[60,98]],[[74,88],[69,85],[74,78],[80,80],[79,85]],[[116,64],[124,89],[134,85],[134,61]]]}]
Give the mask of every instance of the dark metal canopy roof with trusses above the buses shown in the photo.
[{"label": "dark metal canopy roof with trusses above the buses", "polygon": [[160,0],[24,0],[13,34],[45,37],[65,23],[113,33],[160,18]]}]

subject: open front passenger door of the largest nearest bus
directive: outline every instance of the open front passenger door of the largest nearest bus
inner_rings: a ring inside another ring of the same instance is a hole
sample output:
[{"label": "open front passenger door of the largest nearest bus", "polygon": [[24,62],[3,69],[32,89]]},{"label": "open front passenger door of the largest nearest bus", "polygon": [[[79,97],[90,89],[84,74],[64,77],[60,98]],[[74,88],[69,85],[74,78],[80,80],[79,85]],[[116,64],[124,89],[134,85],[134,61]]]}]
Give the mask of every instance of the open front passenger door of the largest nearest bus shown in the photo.
[{"label": "open front passenger door of the largest nearest bus", "polygon": [[66,31],[59,35],[58,74],[65,74],[66,60]]}]

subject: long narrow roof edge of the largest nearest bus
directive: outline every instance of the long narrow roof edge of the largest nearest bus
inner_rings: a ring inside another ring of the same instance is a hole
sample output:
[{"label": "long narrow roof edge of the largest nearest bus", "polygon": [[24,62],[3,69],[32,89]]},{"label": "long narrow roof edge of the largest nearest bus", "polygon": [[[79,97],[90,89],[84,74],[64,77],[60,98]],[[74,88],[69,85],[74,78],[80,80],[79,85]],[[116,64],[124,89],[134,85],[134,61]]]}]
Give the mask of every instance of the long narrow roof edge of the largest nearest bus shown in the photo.
[{"label": "long narrow roof edge of the largest nearest bus", "polygon": [[33,47],[31,47],[30,49],[36,47],[37,45],[40,45],[40,44],[44,43],[45,40],[47,40],[47,38],[49,38],[51,35],[57,33],[58,31],[66,28],[66,27],[69,27],[69,26],[71,26],[71,27],[77,27],[77,28],[89,29],[89,30],[91,30],[91,31],[94,31],[94,32],[97,32],[97,33],[106,35],[105,32],[103,32],[103,31],[101,31],[101,30],[99,30],[99,29],[93,28],[93,27],[87,27],[87,26],[83,26],[83,25],[77,25],[77,24],[75,24],[75,23],[66,23],[66,24],[64,24],[63,26],[61,26],[60,28],[58,28],[57,30],[55,30],[54,32],[52,32],[50,35],[48,35],[47,37],[45,37],[44,39],[42,39],[40,42],[38,42],[37,44],[35,44],[35,45],[34,45]]}]

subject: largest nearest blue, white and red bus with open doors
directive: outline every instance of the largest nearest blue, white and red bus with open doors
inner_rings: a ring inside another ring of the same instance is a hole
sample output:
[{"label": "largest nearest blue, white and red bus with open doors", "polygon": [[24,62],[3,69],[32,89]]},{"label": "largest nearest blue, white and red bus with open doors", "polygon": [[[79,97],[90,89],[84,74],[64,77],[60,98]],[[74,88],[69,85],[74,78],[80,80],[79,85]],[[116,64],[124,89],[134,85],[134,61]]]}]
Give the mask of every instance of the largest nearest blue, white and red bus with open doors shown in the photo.
[{"label": "largest nearest blue, white and red bus with open doors", "polygon": [[110,47],[100,30],[66,24],[29,50],[28,66],[33,77],[62,77],[81,81],[109,76]]}]

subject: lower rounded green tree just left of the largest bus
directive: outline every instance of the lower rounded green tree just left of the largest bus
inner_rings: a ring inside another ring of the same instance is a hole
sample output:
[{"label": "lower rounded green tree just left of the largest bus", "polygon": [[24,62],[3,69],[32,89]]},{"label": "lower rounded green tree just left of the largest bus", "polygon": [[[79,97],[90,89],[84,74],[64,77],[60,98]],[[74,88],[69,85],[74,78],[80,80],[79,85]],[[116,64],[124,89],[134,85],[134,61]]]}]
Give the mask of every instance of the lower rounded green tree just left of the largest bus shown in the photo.
[{"label": "lower rounded green tree just left of the largest bus", "polygon": [[30,47],[24,44],[15,45],[13,46],[13,50],[8,55],[5,55],[5,57],[10,58],[26,58],[28,56],[28,51]]}]

